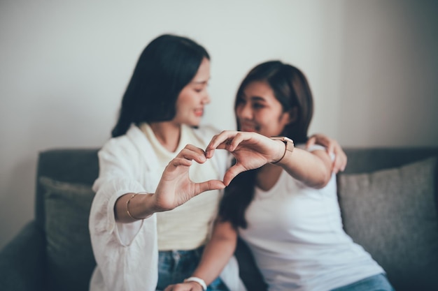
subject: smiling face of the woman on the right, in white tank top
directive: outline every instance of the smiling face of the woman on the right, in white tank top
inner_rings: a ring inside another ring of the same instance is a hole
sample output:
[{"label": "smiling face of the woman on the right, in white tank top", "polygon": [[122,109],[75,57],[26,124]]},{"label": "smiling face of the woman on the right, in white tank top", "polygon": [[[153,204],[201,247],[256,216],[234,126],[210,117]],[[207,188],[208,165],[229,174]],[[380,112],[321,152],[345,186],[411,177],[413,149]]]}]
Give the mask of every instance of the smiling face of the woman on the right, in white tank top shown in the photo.
[{"label": "smiling face of the woman on the right, in white tank top", "polygon": [[290,113],[283,112],[267,82],[250,82],[237,98],[236,117],[241,131],[255,131],[270,137],[281,135],[290,123]]}]

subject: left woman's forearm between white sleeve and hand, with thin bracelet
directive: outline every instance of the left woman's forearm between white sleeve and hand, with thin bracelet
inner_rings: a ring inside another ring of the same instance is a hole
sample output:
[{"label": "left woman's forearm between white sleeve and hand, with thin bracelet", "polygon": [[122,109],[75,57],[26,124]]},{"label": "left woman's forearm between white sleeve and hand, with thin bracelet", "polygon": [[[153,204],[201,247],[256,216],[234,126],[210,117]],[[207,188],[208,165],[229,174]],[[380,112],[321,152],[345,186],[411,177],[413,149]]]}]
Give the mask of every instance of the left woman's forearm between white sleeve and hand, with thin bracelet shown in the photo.
[{"label": "left woman's forearm between white sleeve and hand, with thin bracelet", "polygon": [[148,218],[156,211],[154,195],[146,193],[127,193],[118,198],[114,205],[115,221],[132,223]]}]

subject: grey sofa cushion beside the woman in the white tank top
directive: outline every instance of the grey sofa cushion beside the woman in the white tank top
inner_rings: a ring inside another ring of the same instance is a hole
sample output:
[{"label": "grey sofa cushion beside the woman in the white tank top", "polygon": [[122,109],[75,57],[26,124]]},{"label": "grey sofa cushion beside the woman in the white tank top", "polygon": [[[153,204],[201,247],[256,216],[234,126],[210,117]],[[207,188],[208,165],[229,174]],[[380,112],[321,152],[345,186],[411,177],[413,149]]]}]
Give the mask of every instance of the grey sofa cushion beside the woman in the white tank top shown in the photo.
[{"label": "grey sofa cushion beside the woman in the white tank top", "polygon": [[346,232],[386,270],[395,290],[438,290],[437,158],[340,174]]}]

